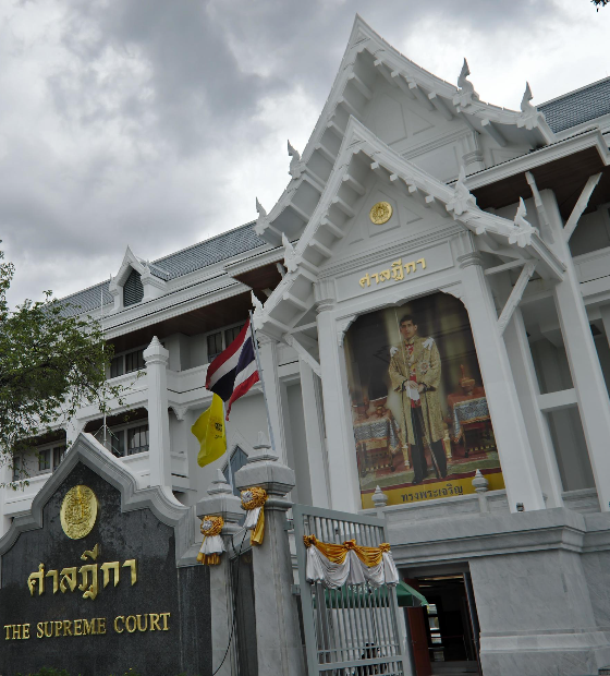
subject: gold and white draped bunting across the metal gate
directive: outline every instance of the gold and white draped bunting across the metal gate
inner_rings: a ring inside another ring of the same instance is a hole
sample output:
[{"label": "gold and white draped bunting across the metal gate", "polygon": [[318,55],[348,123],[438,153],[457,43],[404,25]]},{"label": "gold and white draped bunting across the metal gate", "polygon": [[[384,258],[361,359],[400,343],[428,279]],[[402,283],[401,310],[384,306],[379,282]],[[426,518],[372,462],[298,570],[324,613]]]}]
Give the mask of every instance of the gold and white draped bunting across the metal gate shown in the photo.
[{"label": "gold and white draped bunting across the metal gate", "polygon": [[399,583],[399,571],[387,542],[378,547],[364,547],[355,540],[332,544],[320,542],[315,535],[305,535],[303,542],[307,547],[308,582],[321,582],[329,589],[345,583],[368,582],[371,587]]}]

